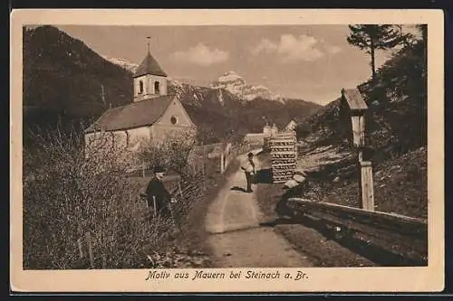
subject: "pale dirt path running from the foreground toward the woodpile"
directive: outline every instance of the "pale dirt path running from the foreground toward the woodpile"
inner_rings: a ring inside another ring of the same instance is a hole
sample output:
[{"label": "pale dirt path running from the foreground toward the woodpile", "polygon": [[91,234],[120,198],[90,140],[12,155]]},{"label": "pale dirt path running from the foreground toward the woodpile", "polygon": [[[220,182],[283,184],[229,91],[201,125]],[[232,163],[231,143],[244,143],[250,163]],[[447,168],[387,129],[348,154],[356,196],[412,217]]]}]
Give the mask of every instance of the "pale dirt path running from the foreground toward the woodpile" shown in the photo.
[{"label": "pale dirt path running from the foreground toward the woodpile", "polygon": [[[244,160],[245,156],[239,159]],[[208,209],[206,227],[211,233],[208,243],[214,253],[214,265],[218,268],[313,266],[272,228],[260,227],[264,215],[259,211],[255,193],[243,191],[245,184],[245,175],[238,169]]]}]

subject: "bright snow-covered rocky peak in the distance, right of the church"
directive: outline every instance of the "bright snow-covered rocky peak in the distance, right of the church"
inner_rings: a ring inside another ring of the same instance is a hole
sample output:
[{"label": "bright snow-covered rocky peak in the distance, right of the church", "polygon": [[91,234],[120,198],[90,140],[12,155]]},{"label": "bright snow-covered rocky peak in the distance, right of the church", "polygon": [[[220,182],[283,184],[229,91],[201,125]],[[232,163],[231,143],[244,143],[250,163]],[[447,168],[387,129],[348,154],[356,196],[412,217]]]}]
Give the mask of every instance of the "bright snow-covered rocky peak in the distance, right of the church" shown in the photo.
[{"label": "bright snow-covered rocky peak in the distance, right of the church", "polygon": [[258,97],[263,99],[282,100],[279,95],[273,94],[265,86],[248,85],[246,80],[235,71],[228,71],[219,76],[210,87],[212,89],[226,89],[240,99],[248,101]]}]

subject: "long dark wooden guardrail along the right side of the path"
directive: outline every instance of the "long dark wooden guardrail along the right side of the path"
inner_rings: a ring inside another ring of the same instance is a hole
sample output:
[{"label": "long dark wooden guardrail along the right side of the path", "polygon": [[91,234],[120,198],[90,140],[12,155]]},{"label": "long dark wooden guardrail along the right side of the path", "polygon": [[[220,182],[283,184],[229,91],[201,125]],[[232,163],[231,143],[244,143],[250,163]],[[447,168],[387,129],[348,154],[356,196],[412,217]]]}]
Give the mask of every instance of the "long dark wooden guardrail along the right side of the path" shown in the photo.
[{"label": "long dark wooden guardrail along the right side of the path", "polygon": [[[425,266],[428,223],[408,216],[290,198],[295,216],[389,266]],[[319,230],[319,229],[318,229]]]}]

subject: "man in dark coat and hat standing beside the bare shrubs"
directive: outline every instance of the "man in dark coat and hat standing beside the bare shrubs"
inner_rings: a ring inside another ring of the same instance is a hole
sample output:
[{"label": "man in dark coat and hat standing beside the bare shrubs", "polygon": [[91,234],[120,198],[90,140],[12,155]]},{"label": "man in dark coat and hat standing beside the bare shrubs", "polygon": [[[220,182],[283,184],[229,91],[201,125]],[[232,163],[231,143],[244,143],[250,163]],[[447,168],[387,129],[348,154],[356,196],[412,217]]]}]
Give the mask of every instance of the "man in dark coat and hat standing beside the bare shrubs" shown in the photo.
[{"label": "man in dark coat and hat standing beside the bare shrubs", "polygon": [[164,175],[165,170],[161,166],[154,169],[154,176],[148,183],[146,195],[148,206],[155,209],[159,216],[170,217],[169,202],[173,202],[173,198],[162,183]]}]

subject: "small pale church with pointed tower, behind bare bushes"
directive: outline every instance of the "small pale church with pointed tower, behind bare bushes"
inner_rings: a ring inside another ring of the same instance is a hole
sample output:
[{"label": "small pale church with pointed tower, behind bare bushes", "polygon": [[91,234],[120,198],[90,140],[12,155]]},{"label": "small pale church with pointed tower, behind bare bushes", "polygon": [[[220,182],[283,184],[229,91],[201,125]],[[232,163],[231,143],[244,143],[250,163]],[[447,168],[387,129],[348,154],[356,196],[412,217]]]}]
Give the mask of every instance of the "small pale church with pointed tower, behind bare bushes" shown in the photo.
[{"label": "small pale church with pointed tower, behind bare bushes", "polygon": [[178,97],[168,95],[167,73],[149,49],[131,80],[133,101],[105,111],[85,130],[85,146],[102,137],[109,141],[110,149],[134,151],[149,141],[161,142],[175,134],[195,133],[197,127]]}]

